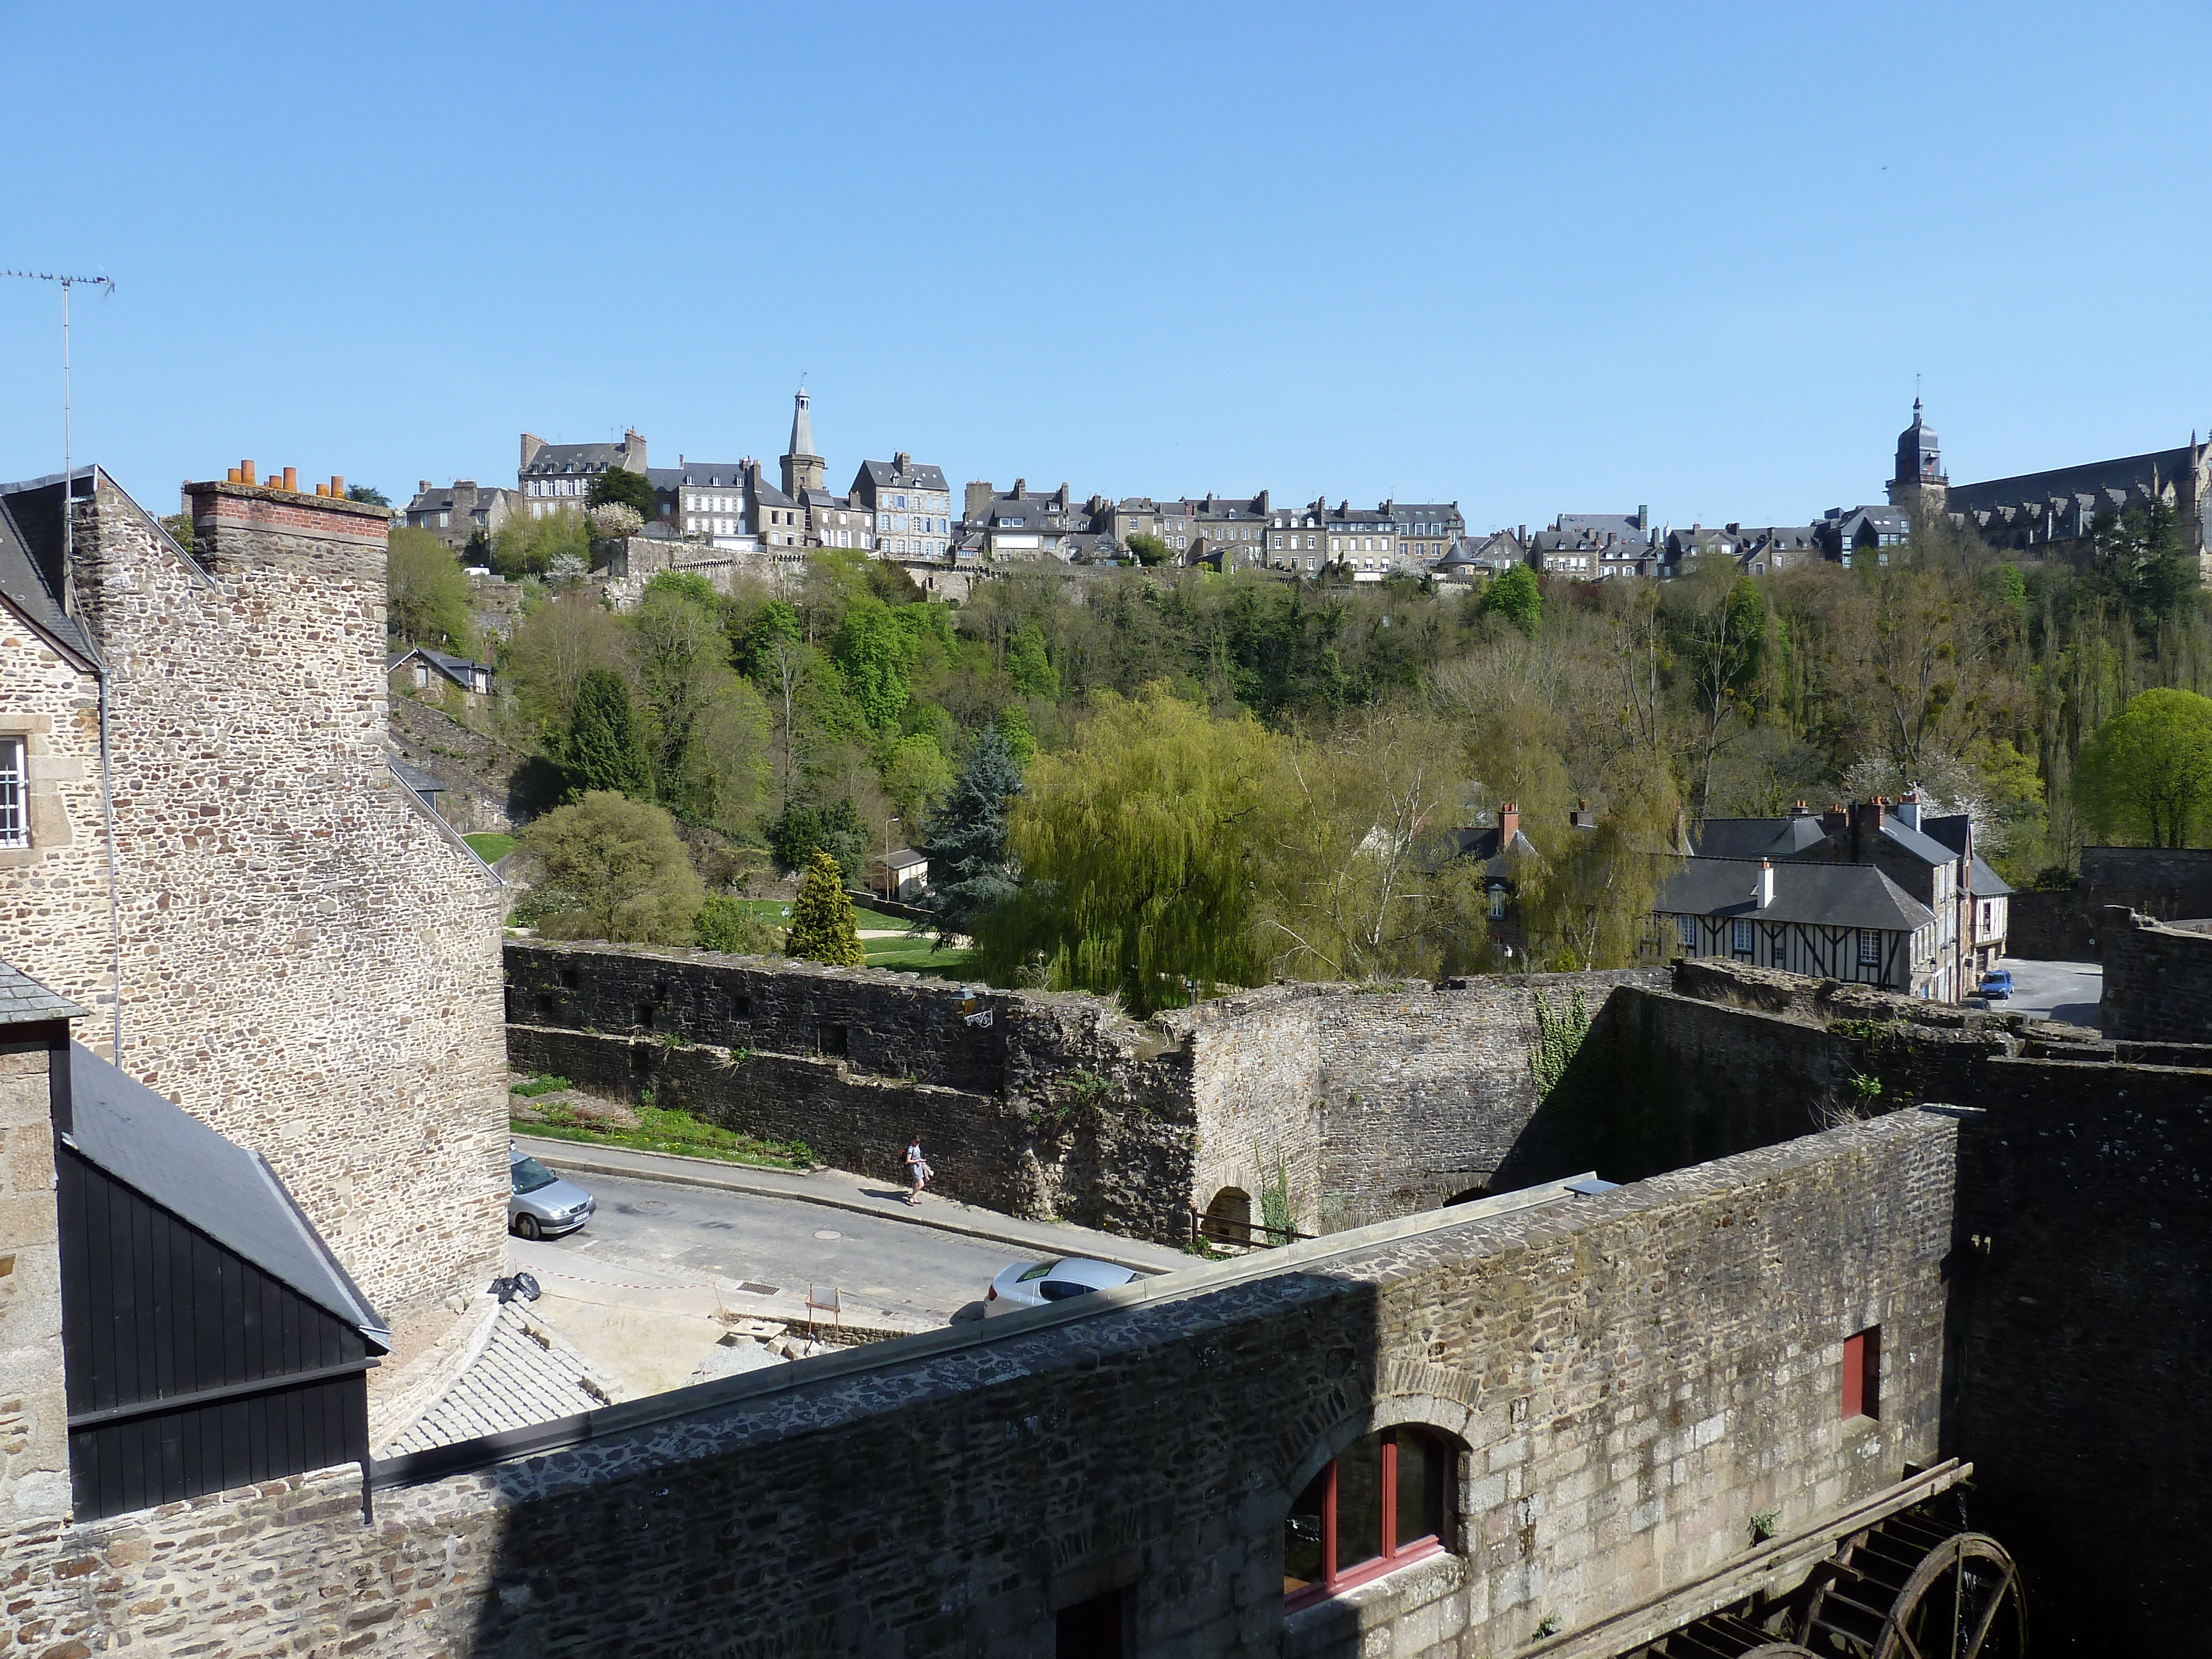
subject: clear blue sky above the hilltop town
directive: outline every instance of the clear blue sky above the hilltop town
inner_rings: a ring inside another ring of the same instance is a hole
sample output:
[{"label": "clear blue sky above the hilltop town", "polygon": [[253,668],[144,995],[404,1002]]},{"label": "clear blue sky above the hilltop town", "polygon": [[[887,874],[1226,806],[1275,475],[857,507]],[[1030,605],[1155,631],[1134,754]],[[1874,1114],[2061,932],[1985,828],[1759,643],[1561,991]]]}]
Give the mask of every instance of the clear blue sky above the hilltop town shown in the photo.
[{"label": "clear blue sky above the hilltop town", "polygon": [[[0,7],[75,453],[513,482],[907,449],[1077,493],[1805,522],[2212,427],[2172,7]],[[0,283],[0,478],[60,469]]]}]

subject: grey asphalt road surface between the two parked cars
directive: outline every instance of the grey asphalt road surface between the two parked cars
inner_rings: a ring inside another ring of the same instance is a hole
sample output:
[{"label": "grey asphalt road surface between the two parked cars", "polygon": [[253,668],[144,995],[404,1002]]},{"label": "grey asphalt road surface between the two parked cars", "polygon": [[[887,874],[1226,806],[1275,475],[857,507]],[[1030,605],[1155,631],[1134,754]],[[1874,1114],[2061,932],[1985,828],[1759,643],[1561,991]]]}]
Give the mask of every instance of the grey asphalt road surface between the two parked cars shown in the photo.
[{"label": "grey asphalt road surface between the two parked cars", "polygon": [[[546,1243],[586,1261],[635,1263],[697,1281],[772,1285],[794,1296],[807,1283],[845,1303],[883,1307],[929,1323],[980,1316],[978,1301],[1020,1245],[964,1239],[849,1210],[745,1192],[573,1177],[599,1199],[580,1232]],[[582,1267],[582,1261],[580,1261]]]}]

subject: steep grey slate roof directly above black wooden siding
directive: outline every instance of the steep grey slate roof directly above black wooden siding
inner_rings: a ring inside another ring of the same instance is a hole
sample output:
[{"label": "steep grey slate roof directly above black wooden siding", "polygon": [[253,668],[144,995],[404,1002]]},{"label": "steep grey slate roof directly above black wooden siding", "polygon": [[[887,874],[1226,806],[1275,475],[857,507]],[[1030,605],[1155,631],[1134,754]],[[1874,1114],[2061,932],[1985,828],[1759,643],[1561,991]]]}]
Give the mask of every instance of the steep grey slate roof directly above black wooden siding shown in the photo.
[{"label": "steep grey slate roof directly above black wooden siding", "polygon": [[217,1135],[75,1042],[69,1093],[66,1141],[84,1159],[330,1310],[378,1354],[392,1349],[392,1329],[259,1152]]}]

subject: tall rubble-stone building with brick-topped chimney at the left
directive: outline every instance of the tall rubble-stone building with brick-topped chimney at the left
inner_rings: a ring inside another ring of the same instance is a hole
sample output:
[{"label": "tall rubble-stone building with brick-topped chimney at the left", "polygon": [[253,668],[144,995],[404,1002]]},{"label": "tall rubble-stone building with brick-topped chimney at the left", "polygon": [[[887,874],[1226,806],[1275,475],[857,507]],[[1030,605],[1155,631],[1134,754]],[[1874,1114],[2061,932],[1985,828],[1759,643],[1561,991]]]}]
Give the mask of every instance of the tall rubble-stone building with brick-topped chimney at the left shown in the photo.
[{"label": "tall rubble-stone building with brick-topped chimney at the left", "polygon": [[268,1159],[400,1369],[502,1261],[502,883],[392,768],[387,509],[184,504],[192,553],[100,469],[69,533],[60,478],[0,487],[29,790],[0,938],[88,1046]]}]

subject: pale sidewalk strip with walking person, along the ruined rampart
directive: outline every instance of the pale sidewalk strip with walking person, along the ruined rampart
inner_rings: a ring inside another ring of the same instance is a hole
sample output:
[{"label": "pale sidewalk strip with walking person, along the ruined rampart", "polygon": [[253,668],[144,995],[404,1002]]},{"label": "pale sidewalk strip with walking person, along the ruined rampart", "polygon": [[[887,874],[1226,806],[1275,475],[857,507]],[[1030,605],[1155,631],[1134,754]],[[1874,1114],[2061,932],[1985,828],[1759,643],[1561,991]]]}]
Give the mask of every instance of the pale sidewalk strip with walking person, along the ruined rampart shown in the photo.
[{"label": "pale sidewalk strip with walking person, along the ruined rampart", "polygon": [[540,1164],[573,1175],[622,1175],[633,1181],[672,1181],[675,1186],[717,1188],[757,1199],[796,1199],[799,1203],[821,1203],[832,1210],[852,1210],[885,1221],[905,1221],[916,1228],[960,1232],[969,1239],[991,1239],[993,1243],[1020,1245],[1022,1250],[1048,1256],[1113,1261],[1137,1272],[1175,1272],[1197,1265],[1194,1256],[1168,1245],[1124,1239],[1113,1232],[1093,1232],[1066,1221],[1020,1221],[998,1210],[980,1210],[973,1203],[940,1199],[933,1192],[925,1192],[918,1206],[909,1206],[902,1194],[891,1194],[889,1181],[854,1175],[852,1170],[816,1168],[807,1175],[799,1175],[796,1170],[761,1170],[748,1164],[723,1164],[712,1157],[633,1152],[624,1146],[553,1141],[520,1130],[515,1130],[513,1139],[515,1146]]}]

